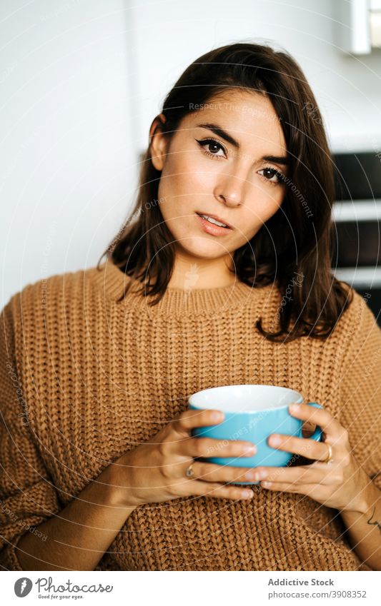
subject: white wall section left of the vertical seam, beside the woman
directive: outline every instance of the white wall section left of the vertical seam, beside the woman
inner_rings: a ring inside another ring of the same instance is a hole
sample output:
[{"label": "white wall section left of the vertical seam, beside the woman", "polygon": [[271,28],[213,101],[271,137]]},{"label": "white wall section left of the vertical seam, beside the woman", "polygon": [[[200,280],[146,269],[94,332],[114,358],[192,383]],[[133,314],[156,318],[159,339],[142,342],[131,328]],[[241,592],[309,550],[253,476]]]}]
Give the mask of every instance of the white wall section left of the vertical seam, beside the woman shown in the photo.
[{"label": "white wall section left of the vertical seam, beside the woman", "polygon": [[96,264],[137,157],[123,0],[1,1],[1,295]]}]

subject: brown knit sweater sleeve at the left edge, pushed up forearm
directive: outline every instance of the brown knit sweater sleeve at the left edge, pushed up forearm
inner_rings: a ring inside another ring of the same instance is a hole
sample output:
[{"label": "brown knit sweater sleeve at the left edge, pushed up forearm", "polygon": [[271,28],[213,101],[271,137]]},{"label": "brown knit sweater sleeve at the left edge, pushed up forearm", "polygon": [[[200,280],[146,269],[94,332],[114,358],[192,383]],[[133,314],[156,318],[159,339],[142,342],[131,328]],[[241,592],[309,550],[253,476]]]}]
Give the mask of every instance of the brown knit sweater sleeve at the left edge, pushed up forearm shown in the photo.
[{"label": "brown knit sweater sleeve at the left edge, pushed up forearm", "polygon": [[54,485],[44,467],[26,416],[17,373],[11,298],[0,314],[0,570],[22,570],[17,542],[59,511]]}]

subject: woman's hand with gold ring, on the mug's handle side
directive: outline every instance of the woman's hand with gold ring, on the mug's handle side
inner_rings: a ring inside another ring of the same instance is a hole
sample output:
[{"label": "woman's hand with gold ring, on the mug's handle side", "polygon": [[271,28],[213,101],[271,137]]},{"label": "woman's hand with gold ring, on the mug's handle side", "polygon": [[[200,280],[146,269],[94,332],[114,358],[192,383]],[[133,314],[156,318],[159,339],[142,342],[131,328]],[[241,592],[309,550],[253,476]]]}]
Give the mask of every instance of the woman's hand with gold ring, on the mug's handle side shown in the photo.
[{"label": "woman's hand with gold ring, on the mug's handle side", "polygon": [[[261,486],[267,490],[307,495],[338,510],[364,510],[365,489],[370,479],[352,455],[347,430],[322,408],[300,404],[299,408],[290,406],[289,410],[295,417],[319,425],[325,442],[272,434],[268,439],[269,446],[302,455],[315,463],[294,468],[261,466],[256,469],[255,479],[266,480]],[[274,441],[276,435],[279,443]],[[330,463],[324,463],[329,453],[327,444],[332,446]]]}]

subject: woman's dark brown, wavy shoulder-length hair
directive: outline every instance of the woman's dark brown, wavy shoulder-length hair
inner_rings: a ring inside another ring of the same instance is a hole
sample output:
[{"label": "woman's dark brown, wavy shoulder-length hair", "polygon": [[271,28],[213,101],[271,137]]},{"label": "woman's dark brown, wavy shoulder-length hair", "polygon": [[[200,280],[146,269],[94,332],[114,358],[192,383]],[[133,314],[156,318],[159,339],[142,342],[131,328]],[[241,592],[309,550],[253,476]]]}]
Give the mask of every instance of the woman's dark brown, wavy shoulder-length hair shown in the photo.
[{"label": "woman's dark brown, wavy shoulder-length hair", "polygon": [[[229,89],[252,90],[269,98],[290,158],[282,206],[232,253],[232,271],[253,288],[274,283],[279,289],[279,330],[264,330],[262,318],[256,323],[265,338],[282,342],[302,336],[327,338],[350,305],[352,292],[332,275],[332,156],[315,96],[300,66],[287,52],[262,44],[229,44],[209,51],[187,67],[167,94],[161,112],[166,121],[159,128],[170,138],[182,118],[197,111],[194,106],[202,107]],[[106,255],[128,276],[144,279],[142,294],[157,295],[149,303],[155,305],[172,276],[175,243],[159,208],[161,171],[152,163],[150,143],[141,160],[134,207],[97,267]]]}]

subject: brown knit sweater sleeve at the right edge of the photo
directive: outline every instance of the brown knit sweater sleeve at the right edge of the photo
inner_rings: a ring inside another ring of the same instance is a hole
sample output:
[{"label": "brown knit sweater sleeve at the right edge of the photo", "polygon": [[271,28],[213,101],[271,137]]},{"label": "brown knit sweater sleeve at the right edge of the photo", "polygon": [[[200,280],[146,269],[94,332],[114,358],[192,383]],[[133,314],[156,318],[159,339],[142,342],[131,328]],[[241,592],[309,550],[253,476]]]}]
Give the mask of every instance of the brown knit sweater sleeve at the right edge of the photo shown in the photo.
[{"label": "brown knit sweater sleeve at the right edge of the photo", "polygon": [[340,373],[340,423],[356,460],[381,489],[381,328],[356,291],[352,305]]}]

